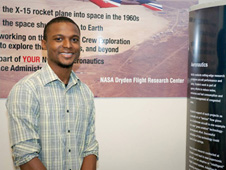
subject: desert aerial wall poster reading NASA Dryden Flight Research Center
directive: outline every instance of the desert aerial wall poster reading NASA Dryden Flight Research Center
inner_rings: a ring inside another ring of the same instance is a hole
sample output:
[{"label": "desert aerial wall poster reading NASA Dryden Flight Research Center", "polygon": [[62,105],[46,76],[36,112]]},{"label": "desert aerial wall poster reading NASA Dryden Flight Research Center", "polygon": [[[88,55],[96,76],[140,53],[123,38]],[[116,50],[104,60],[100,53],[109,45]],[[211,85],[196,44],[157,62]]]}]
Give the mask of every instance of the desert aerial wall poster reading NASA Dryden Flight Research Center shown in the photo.
[{"label": "desert aerial wall poster reading NASA Dryden Flight Research Center", "polygon": [[81,29],[73,70],[95,97],[185,97],[188,11],[196,0],[0,0],[0,98],[47,62],[54,17]]}]

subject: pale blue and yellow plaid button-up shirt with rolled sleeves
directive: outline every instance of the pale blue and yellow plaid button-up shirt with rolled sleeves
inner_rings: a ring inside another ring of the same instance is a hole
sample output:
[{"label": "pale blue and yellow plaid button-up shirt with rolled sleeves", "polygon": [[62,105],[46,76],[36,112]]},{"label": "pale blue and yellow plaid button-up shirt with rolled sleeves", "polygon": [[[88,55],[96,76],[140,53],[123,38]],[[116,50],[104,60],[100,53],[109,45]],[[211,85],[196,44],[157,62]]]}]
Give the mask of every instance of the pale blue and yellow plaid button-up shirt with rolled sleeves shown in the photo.
[{"label": "pale blue and yellow plaid button-up shirt with rolled sleeves", "polygon": [[6,107],[16,166],[39,157],[48,170],[80,170],[98,157],[93,94],[74,72],[65,87],[46,64],[13,87]]}]

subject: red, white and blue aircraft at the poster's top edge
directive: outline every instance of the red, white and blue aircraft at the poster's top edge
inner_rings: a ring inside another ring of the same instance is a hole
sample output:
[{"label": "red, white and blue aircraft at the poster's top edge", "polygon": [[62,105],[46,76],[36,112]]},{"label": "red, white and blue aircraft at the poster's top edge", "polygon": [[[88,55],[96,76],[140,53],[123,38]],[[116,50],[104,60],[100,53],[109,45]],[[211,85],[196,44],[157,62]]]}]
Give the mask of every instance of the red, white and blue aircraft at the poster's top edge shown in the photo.
[{"label": "red, white and blue aircraft at the poster's top edge", "polygon": [[120,5],[143,5],[154,11],[162,11],[162,5],[150,0],[90,0],[100,8],[119,7]]}]

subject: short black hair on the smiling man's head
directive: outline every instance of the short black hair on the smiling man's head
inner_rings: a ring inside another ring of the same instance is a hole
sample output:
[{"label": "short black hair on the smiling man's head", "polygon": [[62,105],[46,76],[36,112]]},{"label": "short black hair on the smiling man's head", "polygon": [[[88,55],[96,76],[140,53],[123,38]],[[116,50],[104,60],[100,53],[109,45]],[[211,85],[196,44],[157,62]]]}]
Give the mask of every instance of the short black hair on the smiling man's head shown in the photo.
[{"label": "short black hair on the smiling man's head", "polygon": [[79,31],[79,34],[80,34],[80,29],[79,29],[79,26],[70,18],[68,17],[56,17],[56,18],[53,18],[52,20],[50,20],[46,25],[45,25],[45,28],[44,28],[44,31],[43,31],[43,39],[46,41],[47,40],[47,30],[49,28],[49,26],[53,23],[59,23],[59,22],[70,22],[72,24],[74,24],[77,28],[78,28],[78,31]]}]

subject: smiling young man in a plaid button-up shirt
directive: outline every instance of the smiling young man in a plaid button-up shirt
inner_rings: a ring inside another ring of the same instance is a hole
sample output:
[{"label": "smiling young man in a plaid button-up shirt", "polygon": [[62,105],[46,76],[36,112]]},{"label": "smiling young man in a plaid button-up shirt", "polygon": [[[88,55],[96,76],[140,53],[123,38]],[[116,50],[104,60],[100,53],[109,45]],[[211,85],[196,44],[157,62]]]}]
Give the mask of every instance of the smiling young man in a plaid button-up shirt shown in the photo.
[{"label": "smiling young man in a plaid button-up shirt", "polygon": [[47,23],[48,64],[20,80],[7,99],[14,162],[22,170],[96,170],[93,94],[72,71],[80,30],[69,18]]}]

